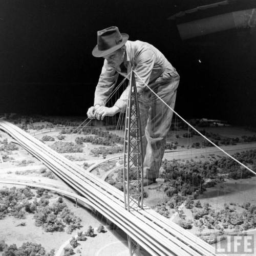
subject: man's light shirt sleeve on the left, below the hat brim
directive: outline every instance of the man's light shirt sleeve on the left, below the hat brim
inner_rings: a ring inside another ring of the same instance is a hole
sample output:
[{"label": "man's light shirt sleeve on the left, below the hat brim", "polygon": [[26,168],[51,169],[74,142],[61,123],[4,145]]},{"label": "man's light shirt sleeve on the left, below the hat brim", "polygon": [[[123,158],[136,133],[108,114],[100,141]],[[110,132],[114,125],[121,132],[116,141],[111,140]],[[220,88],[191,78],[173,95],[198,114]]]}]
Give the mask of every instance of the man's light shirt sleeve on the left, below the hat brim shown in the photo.
[{"label": "man's light shirt sleeve on the left, below the hat brim", "polygon": [[115,87],[117,78],[118,73],[116,70],[110,67],[108,62],[104,60],[99,81],[95,89],[94,106],[97,104],[104,106],[106,104],[106,99]]}]

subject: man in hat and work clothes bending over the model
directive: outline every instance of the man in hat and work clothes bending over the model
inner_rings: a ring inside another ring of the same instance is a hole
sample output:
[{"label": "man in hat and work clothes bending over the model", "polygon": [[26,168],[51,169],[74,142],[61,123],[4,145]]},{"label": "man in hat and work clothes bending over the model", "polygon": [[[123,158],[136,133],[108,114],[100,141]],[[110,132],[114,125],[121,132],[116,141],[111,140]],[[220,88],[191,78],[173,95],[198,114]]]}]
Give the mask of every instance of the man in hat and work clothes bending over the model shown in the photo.
[{"label": "man in hat and work clothes bending over the model", "polygon": [[129,35],[120,33],[117,27],[100,30],[97,37],[92,54],[103,57],[104,63],[95,90],[94,105],[88,109],[87,115],[91,119],[103,120],[105,116],[125,111],[128,88],[111,108],[106,107],[105,102],[115,87],[118,75],[126,77],[133,66],[142,79],[135,75],[142,129],[144,185],[152,184],[159,176],[173,111],[144,83],[174,109],[179,74],[158,49],[147,42],[128,40]]}]

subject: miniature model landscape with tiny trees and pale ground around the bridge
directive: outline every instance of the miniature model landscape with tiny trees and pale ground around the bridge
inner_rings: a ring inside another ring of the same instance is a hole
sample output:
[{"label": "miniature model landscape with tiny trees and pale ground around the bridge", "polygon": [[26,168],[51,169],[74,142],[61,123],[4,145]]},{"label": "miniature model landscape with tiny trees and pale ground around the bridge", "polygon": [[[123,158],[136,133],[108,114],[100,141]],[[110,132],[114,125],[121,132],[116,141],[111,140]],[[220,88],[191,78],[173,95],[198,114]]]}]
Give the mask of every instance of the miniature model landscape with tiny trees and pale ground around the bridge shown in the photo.
[{"label": "miniature model landscape with tiny trees and pale ground around the bridge", "polygon": [[[70,117],[5,118],[84,172],[123,190],[123,131],[115,125],[94,122],[78,127],[83,119]],[[190,123],[256,169],[256,131],[202,119]],[[76,193],[3,132],[0,153],[2,255],[127,255],[126,236],[120,229],[79,200],[43,188]],[[228,234],[255,232],[256,178],[251,172],[176,120],[163,159],[157,183],[145,187],[148,207],[210,244],[217,242],[217,236],[225,240]]]}]

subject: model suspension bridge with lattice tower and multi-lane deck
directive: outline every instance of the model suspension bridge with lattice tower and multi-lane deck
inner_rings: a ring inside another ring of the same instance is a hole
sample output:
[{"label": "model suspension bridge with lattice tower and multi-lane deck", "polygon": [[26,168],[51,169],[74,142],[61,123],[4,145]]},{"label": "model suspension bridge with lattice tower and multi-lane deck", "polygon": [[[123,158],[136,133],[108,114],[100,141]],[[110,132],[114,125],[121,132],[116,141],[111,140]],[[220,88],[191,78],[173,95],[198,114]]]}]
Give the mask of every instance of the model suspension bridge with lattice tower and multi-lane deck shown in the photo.
[{"label": "model suspension bridge with lattice tower and multi-lane deck", "polygon": [[[142,247],[151,255],[213,256],[214,247],[143,204],[142,147],[134,74],[132,72],[130,78],[130,98],[125,119],[124,192],[84,172],[82,167],[16,125],[1,120],[0,129],[76,190],[87,204],[121,228],[128,236],[131,255],[139,254],[139,247]],[[133,182],[131,177],[135,176],[136,182]],[[131,194],[131,188],[135,194]]]}]

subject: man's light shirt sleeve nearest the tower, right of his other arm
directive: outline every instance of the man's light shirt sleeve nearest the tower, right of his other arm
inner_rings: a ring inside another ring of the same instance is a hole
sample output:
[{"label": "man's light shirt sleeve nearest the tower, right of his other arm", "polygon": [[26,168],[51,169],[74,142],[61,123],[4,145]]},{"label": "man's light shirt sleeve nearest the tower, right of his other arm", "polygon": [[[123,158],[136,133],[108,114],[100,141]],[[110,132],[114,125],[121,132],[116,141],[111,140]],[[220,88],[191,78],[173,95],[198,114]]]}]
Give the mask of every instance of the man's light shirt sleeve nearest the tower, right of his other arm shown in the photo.
[{"label": "man's light shirt sleeve nearest the tower, right of his other arm", "polygon": [[[136,66],[134,71],[138,74],[135,75],[136,87],[138,95],[143,92],[143,89],[146,87],[143,82],[148,84],[150,82],[150,76],[155,64],[155,54],[151,49],[143,49],[141,52],[135,56]],[[120,98],[116,101],[115,105],[118,106],[119,109],[124,110],[127,104],[127,100],[129,97],[129,87],[127,87]]]}]

